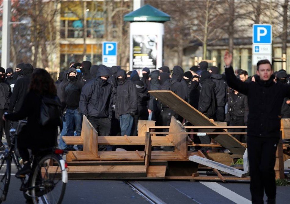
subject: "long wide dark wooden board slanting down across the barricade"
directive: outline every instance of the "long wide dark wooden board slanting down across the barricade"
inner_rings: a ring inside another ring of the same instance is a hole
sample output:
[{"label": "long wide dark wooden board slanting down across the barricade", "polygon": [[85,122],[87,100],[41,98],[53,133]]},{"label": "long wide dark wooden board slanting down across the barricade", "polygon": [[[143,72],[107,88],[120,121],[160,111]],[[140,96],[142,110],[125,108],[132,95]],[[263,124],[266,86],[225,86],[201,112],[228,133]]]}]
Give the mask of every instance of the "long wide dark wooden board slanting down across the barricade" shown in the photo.
[{"label": "long wide dark wooden board slanting down across the barricade", "polygon": [[[148,91],[148,93],[153,95],[160,102],[166,104],[170,109],[184,117],[195,126],[217,126],[214,122],[211,122],[206,116],[201,114],[201,112],[190,106],[186,101],[182,100],[172,91]],[[245,152],[245,147],[236,138],[229,134],[227,136],[210,136],[223,147],[231,148],[229,150],[233,154],[244,154]]]}]

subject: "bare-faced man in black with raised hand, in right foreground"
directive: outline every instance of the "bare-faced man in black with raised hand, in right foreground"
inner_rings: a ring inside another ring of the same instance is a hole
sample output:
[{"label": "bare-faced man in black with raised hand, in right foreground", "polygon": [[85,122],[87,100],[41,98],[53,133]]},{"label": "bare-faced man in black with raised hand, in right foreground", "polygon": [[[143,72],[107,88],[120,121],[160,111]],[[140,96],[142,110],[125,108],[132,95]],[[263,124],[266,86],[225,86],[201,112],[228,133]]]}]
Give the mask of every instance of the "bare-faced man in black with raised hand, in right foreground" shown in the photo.
[{"label": "bare-faced man in black with raised hand, in right foreground", "polygon": [[275,83],[272,65],[268,60],[257,63],[256,82],[242,82],[234,75],[232,55],[226,51],[226,79],[228,86],[248,96],[247,146],[250,164],[250,191],[252,203],[264,203],[264,190],[268,203],[275,203],[275,160],[280,139],[280,113],[290,86]]}]

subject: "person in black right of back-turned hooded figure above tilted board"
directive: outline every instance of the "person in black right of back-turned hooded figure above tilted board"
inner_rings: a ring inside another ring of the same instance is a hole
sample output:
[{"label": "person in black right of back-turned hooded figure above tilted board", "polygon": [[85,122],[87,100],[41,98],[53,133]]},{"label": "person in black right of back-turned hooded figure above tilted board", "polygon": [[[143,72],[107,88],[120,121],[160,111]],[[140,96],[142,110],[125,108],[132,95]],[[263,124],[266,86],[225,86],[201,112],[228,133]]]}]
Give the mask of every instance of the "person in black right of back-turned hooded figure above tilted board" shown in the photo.
[{"label": "person in black right of back-turned hooded figure above tilted board", "polygon": [[227,85],[223,80],[223,76],[218,74],[218,67],[211,67],[209,69],[211,74],[210,79],[215,82],[215,96],[217,98],[217,111],[215,112],[216,121],[223,122],[225,120],[225,106],[226,106],[226,93]]}]

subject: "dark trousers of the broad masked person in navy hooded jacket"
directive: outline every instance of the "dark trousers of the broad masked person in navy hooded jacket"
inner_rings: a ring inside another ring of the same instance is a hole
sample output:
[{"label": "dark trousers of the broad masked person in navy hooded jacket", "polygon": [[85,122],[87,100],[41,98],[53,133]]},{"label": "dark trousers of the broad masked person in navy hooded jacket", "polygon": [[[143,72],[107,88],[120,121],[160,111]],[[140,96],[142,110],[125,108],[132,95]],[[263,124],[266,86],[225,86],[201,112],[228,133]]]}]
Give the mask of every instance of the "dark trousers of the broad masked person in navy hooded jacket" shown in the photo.
[{"label": "dark trousers of the broad masked person in navy hooded jacket", "polygon": [[[87,117],[92,126],[97,130],[98,136],[110,136],[111,134],[111,119],[98,118],[94,116]],[[106,151],[107,145],[99,145],[99,151]]]}]

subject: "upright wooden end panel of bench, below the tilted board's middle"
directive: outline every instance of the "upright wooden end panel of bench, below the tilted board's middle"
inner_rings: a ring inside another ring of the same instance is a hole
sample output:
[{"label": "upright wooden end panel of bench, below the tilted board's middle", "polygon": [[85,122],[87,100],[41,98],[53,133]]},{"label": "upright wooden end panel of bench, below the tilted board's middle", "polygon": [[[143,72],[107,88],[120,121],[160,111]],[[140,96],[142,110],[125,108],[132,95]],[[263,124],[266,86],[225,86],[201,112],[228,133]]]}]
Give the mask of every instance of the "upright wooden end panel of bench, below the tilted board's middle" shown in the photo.
[{"label": "upright wooden end panel of bench, below the tilted board's middle", "polygon": [[183,158],[187,158],[187,135],[172,135],[170,132],[186,133],[184,126],[174,116],[171,117],[168,136],[174,141],[174,152],[178,152]]}]

